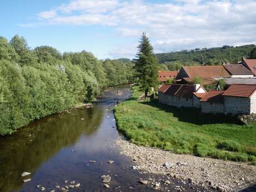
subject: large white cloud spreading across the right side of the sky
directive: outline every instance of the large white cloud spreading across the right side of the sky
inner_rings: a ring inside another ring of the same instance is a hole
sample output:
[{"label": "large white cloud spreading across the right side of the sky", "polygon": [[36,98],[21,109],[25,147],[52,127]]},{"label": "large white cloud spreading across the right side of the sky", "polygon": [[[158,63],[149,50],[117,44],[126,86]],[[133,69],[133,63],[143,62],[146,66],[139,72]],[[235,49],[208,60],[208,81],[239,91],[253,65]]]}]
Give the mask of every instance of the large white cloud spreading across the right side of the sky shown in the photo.
[{"label": "large white cloud spreading across the right side of the sky", "polygon": [[136,46],[131,44],[137,43],[142,32],[150,36],[155,52],[255,42],[254,0],[174,2],[73,0],[39,13],[38,22],[110,26],[123,38],[134,37],[129,45],[116,45],[110,51],[114,57],[120,53],[128,56],[132,52],[135,55]]}]

